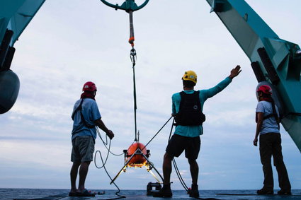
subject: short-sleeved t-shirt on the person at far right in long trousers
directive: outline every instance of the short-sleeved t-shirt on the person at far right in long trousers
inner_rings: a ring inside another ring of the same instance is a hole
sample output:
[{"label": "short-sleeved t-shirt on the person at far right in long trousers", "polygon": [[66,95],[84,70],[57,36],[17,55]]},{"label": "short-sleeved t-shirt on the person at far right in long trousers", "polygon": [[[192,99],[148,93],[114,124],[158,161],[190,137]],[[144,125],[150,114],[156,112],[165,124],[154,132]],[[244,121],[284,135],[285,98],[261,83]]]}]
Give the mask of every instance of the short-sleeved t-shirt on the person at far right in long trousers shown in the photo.
[{"label": "short-sleeved t-shirt on the person at far right in long trousers", "polygon": [[[278,114],[279,117],[279,111],[276,105],[275,108],[276,108],[276,113]],[[258,102],[256,107],[256,112],[263,112],[263,117],[266,117],[268,114],[273,114],[272,103],[265,100]],[[267,133],[280,133],[275,117],[269,117],[263,120],[260,134],[262,135]]]}]

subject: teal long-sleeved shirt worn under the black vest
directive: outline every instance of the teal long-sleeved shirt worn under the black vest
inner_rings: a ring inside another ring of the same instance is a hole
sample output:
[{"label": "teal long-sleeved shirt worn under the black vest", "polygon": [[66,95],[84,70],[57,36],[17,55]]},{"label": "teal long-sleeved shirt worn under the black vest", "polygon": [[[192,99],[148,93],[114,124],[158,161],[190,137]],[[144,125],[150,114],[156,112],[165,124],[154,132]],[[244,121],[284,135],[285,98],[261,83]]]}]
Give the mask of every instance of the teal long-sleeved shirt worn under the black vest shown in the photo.
[{"label": "teal long-sleeved shirt worn under the black vest", "polygon": [[[229,83],[231,83],[232,79],[227,77],[225,80],[221,81],[217,84],[217,86],[210,88],[208,90],[200,90],[200,106],[202,107],[203,111],[203,105],[205,100],[208,98],[212,98],[217,93],[220,93],[220,91],[224,90]],[[184,90],[187,94],[194,93],[195,90]],[[180,110],[180,102],[181,102],[181,95],[180,93],[175,93],[171,97],[172,99],[172,113],[176,114]],[[176,126],[176,130],[174,131],[174,134],[178,134],[180,136],[186,136],[186,137],[197,137],[203,134],[203,127],[200,126]]]}]

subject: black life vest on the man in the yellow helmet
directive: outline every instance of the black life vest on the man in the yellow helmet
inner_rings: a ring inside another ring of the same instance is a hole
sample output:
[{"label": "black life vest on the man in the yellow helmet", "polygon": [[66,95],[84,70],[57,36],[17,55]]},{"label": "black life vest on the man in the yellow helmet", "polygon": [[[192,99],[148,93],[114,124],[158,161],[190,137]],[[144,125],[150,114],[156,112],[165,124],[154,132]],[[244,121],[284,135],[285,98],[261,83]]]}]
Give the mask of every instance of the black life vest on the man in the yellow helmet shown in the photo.
[{"label": "black life vest on the man in the yellow helmet", "polygon": [[205,114],[200,106],[200,91],[192,94],[186,94],[184,91],[180,93],[181,102],[180,110],[176,114],[176,125],[181,126],[199,126],[205,122]]}]

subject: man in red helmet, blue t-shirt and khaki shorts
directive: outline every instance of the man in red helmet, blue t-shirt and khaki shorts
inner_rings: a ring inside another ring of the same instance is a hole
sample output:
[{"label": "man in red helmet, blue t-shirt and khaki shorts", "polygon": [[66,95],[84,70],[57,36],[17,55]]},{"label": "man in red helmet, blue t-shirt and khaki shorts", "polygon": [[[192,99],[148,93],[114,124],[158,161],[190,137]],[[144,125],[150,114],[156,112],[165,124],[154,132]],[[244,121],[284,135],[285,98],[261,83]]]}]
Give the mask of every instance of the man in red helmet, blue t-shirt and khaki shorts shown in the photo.
[{"label": "man in red helmet, blue t-shirt and khaki shorts", "polygon": [[[84,93],[81,99],[74,105],[72,119],[72,155],[73,162],[70,180],[71,190],[69,196],[95,196],[88,192],[84,186],[89,165],[93,160],[93,152],[96,139],[96,126],[106,132],[110,139],[114,134],[101,120],[101,113],[95,101],[97,88],[91,81],[86,82],[83,87]],[[76,177],[79,171],[79,187],[76,188]]]}]

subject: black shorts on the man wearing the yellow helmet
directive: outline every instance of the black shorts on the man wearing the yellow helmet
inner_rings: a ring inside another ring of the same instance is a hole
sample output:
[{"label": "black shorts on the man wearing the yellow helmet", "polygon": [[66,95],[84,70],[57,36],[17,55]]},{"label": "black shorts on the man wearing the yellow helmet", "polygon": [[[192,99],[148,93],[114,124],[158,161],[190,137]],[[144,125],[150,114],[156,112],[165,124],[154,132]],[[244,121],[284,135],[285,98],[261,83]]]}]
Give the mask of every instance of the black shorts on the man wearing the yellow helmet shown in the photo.
[{"label": "black shorts on the man wearing the yellow helmet", "polygon": [[185,150],[185,157],[196,160],[200,152],[200,136],[190,138],[174,134],[169,140],[166,152],[171,156],[180,156]]}]

